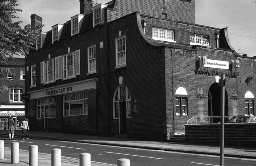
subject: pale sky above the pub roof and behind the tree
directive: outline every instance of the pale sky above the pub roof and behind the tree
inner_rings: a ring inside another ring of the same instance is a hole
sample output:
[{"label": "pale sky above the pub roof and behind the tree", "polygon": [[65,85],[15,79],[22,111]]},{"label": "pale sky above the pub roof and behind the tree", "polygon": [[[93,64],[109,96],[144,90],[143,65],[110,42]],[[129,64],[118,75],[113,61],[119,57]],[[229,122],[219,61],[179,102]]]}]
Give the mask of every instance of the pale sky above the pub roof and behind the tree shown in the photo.
[{"label": "pale sky above the pub roof and behind the tree", "polygon": [[[106,3],[111,0],[94,0]],[[43,31],[55,24],[63,24],[79,14],[79,0],[18,0],[17,13],[24,27],[30,24],[30,15],[43,18]],[[195,0],[196,24],[214,28],[228,27],[228,37],[234,50],[247,56],[256,56],[256,0]]]}]

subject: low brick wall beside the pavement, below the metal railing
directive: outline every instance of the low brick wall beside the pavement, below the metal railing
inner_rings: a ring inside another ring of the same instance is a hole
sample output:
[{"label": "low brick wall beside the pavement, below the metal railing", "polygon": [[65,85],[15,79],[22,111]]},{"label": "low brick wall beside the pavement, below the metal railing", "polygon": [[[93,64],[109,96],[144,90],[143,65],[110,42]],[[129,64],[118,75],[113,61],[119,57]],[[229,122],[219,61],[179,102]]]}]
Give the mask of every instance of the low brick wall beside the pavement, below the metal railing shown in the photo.
[{"label": "low brick wall beside the pavement, below the metal railing", "polygon": [[[185,125],[186,142],[220,144],[220,124]],[[256,146],[256,124],[224,124],[224,144]]]}]

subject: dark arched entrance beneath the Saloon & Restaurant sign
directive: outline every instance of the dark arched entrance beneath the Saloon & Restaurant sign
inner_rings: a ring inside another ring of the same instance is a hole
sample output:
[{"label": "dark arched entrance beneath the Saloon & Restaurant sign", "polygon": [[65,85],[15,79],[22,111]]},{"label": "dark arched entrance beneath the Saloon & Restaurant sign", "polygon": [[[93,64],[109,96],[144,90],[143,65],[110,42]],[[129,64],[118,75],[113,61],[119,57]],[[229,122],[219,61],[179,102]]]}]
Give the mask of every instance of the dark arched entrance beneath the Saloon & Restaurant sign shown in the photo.
[{"label": "dark arched entrance beneath the Saloon & Restaurant sign", "polygon": [[[228,116],[228,94],[225,89],[224,116]],[[221,116],[221,87],[213,83],[208,91],[208,114],[209,116]],[[221,122],[221,118],[212,118],[212,123]]]}]

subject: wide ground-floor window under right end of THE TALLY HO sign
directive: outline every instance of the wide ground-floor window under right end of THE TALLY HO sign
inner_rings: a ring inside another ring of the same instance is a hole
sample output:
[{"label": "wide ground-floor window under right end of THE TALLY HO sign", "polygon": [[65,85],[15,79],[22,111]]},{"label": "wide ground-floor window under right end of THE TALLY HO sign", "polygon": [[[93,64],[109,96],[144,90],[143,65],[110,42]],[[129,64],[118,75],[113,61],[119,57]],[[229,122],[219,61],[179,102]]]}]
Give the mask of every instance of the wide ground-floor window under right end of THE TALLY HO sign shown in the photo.
[{"label": "wide ground-floor window under right end of THE TALLY HO sign", "polygon": [[88,114],[88,92],[63,96],[64,116]]}]

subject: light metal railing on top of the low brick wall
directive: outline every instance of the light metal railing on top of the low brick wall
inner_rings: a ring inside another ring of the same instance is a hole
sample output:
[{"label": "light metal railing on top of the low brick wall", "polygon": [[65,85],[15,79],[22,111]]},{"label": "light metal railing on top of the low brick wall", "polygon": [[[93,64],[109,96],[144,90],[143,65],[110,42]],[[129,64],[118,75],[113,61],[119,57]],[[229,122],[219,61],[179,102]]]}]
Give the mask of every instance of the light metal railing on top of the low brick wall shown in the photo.
[{"label": "light metal railing on top of the low brick wall", "polygon": [[[194,116],[187,120],[187,124],[219,124],[220,120],[217,123],[213,123],[215,120],[214,118],[221,118],[221,116]],[[224,116],[225,122],[228,121],[232,116]]]}]

